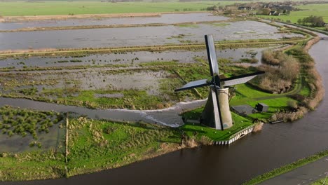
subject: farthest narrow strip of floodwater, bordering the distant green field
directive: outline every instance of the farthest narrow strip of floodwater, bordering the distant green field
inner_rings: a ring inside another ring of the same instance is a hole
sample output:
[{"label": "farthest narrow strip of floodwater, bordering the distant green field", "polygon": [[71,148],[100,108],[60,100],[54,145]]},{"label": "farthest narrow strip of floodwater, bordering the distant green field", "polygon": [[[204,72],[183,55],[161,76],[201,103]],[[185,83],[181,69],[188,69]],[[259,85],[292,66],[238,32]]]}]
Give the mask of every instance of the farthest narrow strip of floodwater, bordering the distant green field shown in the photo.
[{"label": "farthest narrow strip of floodwater, bordering the distant green field", "polygon": [[65,20],[35,20],[27,22],[0,22],[0,31],[10,32],[18,30],[43,29],[64,29],[67,27],[93,28],[100,26],[107,27],[140,27],[142,25],[172,25],[185,22],[226,22],[229,18],[224,16],[214,16],[212,13],[165,13],[149,17],[123,17],[123,18],[84,18],[84,19],[65,19]]}]

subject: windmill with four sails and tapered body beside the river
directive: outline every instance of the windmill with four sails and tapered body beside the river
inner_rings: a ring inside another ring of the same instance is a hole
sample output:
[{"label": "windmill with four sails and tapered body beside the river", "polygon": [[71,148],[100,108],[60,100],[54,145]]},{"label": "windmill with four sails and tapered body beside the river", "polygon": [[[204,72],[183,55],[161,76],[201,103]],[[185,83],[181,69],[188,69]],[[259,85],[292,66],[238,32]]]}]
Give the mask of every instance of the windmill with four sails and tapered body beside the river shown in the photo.
[{"label": "windmill with four sails and tapered body beside the river", "polygon": [[182,88],[176,89],[175,92],[210,86],[210,94],[208,95],[203,113],[200,116],[200,123],[217,130],[224,130],[224,128],[230,128],[233,125],[228,102],[228,86],[246,83],[255,76],[264,74],[264,71],[220,79],[219,65],[217,64],[217,55],[215,53],[212,34],[205,35],[205,43],[212,79],[210,81],[203,79],[186,83]]}]

